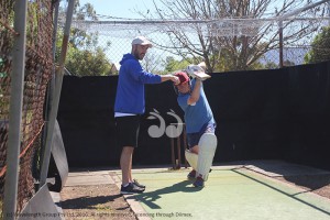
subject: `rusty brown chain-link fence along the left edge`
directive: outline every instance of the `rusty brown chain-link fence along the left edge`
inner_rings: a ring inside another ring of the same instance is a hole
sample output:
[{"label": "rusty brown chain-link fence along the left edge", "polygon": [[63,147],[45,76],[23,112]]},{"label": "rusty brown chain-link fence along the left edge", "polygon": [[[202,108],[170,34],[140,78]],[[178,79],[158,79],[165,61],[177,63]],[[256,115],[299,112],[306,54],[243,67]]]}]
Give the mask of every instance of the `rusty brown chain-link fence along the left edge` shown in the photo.
[{"label": "rusty brown chain-link fence along the left edge", "polygon": [[[0,211],[2,212],[7,174],[9,106],[12,50],[14,36],[14,0],[0,1]],[[33,165],[37,164],[41,134],[44,127],[44,102],[47,82],[53,68],[53,6],[50,0],[29,1],[26,19],[25,75],[20,144],[18,207],[34,195]],[[14,91],[13,91],[14,92]],[[14,198],[13,198],[14,199]],[[2,216],[2,215],[0,215]]]}]

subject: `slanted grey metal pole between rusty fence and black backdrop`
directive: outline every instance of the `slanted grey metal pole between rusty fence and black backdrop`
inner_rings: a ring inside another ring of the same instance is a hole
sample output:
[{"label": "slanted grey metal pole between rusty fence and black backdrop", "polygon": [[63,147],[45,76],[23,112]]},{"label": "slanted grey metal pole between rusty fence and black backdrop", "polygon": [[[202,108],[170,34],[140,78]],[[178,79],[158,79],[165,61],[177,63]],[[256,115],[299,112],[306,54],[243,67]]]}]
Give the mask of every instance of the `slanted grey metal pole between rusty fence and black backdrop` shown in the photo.
[{"label": "slanted grey metal pole between rusty fence and black backdrop", "polygon": [[54,99],[52,100],[52,103],[51,103],[52,108],[51,108],[51,112],[50,112],[50,122],[48,122],[48,128],[46,129],[47,130],[46,143],[45,143],[44,155],[42,158],[42,167],[41,167],[41,177],[40,177],[38,188],[41,188],[46,183],[48,167],[50,167],[50,160],[51,160],[52,144],[53,144],[53,133],[54,133],[55,121],[56,121],[56,117],[57,117],[58,103],[59,103],[59,98],[61,98],[61,90],[62,90],[62,82],[63,82],[63,75],[64,75],[64,64],[65,64],[67,44],[68,44],[68,38],[69,38],[69,33],[70,33],[74,7],[75,7],[75,0],[69,0],[67,13],[66,13],[64,36],[63,36],[63,42],[62,42],[59,67],[56,70],[57,76],[55,77]]}]

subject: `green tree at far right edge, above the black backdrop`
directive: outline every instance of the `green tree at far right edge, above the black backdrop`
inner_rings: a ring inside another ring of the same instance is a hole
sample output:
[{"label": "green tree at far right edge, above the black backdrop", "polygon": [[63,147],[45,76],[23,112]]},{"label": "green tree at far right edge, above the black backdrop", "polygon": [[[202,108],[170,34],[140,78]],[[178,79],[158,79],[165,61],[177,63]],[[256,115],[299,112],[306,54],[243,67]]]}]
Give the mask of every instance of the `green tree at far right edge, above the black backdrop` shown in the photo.
[{"label": "green tree at far right edge, above the black backdrop", "polygon": [[304,57],[305,63],[330,61],[330,26],[322,28],[311,43],[311,50]]}]

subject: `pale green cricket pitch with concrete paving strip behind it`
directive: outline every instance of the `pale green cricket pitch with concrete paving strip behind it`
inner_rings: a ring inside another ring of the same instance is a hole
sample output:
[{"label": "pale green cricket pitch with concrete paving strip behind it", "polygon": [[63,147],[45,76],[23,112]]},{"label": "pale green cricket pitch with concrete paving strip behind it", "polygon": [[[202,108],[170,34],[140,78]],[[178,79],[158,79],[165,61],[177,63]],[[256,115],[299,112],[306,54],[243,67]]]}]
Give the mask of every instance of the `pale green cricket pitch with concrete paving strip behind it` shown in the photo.
[{"label": "pale green cricket pitch with concrete paving strip behind it", "polygon": [[[254,161],[213,166],[202,189],[186,175],[190,169],[134,169],[133,176],[147,186],[125,200],[138,219],[217,220],[330,220],[330,199],[309,193],[274,176],[329,174],[282,161]],[[117,184],[120,170],[70,173],[66,186]]]}]

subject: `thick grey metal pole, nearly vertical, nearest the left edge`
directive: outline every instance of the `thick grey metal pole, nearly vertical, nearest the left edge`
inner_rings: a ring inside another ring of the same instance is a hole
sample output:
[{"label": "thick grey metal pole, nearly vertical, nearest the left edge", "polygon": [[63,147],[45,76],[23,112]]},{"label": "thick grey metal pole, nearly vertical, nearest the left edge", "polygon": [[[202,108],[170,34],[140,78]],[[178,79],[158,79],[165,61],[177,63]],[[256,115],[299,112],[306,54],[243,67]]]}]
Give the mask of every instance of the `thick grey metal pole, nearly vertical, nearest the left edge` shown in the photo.
[{"label": "thick grey metal pole, nearly vertical, nearest the left edge", "polygon": [[12,51],[12,75],[10,87],[9,134],[7,148],[7,173],[4,180],[3,218],[15,219],[18,180],[21,148],[21,123],[25,68],[25,40],[28,0],[15,1],[14,37]]}]

